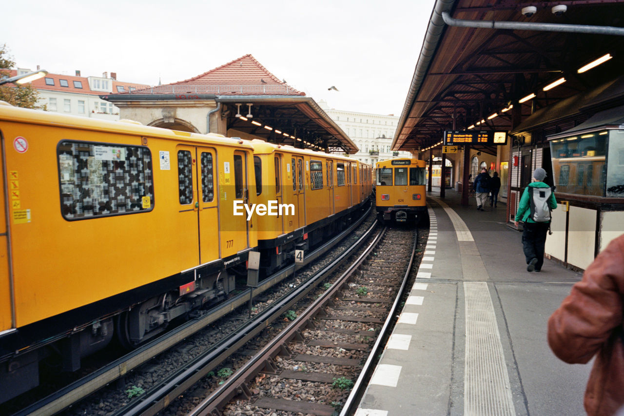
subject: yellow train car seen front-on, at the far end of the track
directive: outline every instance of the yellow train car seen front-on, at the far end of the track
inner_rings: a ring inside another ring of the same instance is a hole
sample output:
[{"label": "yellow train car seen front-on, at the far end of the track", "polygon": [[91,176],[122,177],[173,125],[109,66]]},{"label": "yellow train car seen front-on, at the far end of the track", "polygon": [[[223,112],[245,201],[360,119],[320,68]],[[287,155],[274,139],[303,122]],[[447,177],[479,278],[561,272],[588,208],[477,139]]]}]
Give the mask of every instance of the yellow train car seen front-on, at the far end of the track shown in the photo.
[{"label": "yellow train car seen front-on, at the far end of the track", "polygon": [[386,222],[419,222],[427,216],[425,161],[394,158],[376,164],[376,210]]}]

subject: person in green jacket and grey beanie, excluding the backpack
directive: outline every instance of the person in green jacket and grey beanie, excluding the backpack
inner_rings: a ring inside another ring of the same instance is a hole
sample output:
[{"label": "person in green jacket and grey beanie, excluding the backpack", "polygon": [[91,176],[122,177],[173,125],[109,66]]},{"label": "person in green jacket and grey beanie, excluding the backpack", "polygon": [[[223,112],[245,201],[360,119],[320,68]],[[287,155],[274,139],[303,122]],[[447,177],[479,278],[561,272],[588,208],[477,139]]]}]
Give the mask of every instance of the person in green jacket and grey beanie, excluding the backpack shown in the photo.
[{"label": "person in green jacket and grey beanie, excluding the backpack", "polygon": [[[529,186],[525,187],[520,198],[520,205],[518,211],[515,214],[515,226],[518,226],[520,221],[524,222],[522,230],[522,250],[524,251],[524,257],[527,260],[527,272],[539,272],[542,270],[544,264],[544,246],[546,245],[546,235],[550,228],[550,219],[545,222],[535,222],[532,218],[532,212],[530,209],[531,196],[529,188],[550,188],[544,182],[546,177],[546,171],[541,167],[538,167],[533,172],[533,179]],[[550,191],[550,189],[549,189]],[[548,198],[548,207],[550,210],[557,208],[557,199],[555,194],[550,191],[550,197]]]}]

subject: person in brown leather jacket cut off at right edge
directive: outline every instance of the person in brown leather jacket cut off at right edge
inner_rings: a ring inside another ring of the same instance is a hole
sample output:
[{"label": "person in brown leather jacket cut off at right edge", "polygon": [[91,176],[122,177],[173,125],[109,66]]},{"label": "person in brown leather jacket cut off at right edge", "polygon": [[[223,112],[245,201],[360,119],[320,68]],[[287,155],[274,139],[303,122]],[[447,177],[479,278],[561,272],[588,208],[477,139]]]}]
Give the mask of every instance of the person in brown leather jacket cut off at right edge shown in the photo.
[{"label": "person in brown leather jacket cut off at right edge", "polygon": [[624,235],[610,242],[548,319],[548,344],[568,364],[594,355],[585,389],[590,416],[612,416],[624,405]]}]

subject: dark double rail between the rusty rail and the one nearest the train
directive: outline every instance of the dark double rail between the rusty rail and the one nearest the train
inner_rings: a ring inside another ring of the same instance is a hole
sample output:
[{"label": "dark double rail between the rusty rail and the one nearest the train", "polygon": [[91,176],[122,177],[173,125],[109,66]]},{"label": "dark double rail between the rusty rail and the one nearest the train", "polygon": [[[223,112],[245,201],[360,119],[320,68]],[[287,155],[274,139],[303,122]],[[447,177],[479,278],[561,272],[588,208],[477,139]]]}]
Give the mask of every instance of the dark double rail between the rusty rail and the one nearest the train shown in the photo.
[{"label": "dark double rail between the rusty rail and the one nearest the train", "polygon": [[[321,270],[316,272],[312,277],[302,282],[295,289],[284,295],[280,300],[273,302],[270,307],[260,312],[245,324],[241,325],[231,336],[221,340],[217,344],[210,347],[204,354],[196,357],[188,362],[182,369],[170,375],[163,380],[158,386],[153,387],[148,392],[132,400],[123,409],[117,410],[115,416],[134,416],[134,415],[155,415],[160,410],[165,409],[172,400],[178,395],[185,392],[205,377],[212,369],[220,365],[223,360],[227,359],[236,350],[240,349],[248,340],[258,335],[262,330],[268,327],[271,322],[278,319],[292,305],[299,302],[305,297],[310,290],[319,284],[321,279],[336,270],[353,251],[368,239],[369,234],[373,232],[377,226],[377,221],[362,235],[355,244],[345,250],[336,259],[329,262]],[[293,321],[293,322],[296,322]],[[226,382],[224,385],[230,385]],[[221,390],[221,389],[219,389]]]}]

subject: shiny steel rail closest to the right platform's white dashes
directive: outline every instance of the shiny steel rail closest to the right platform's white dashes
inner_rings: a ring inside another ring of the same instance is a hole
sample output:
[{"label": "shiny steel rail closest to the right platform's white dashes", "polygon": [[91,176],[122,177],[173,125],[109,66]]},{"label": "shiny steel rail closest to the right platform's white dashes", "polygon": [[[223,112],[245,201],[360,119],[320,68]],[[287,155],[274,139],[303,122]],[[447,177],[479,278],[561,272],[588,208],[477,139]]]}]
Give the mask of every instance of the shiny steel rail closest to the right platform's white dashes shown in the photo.
[{"label": "shiny steel rail closest to the right platform's white dashes", "polygon": [[412,248],[412,255],[409,258],[409,264],[407,265],[407,270],[405,271],[405,275],[403,276],[403,282],[401,284],[401,288],[399,289],[399,293],[394,299],[394,303],[392,304],[392,308],[386,318],[386,322],[384,322],[384,326],[381,327],[381,331],[379,332],[379,336],[375,344],[373,345],[373,349],[371,350],[371,354],[368,355],[368,359],[366,359],[366,363],[364,363],[364,367],[359,374],[358,380],[356,380],[353,385],[353,389],[351,389],[351,394],[347,397],[346,402],[344,403],[343,410],[340,412],[339,416],[346,416],[353,414],[355,408],[358,407],[361,397],[364,394],[364,390],[368,385],[364,384],[366,380],[369,380],[371,377],[373,370],[375,369],[376,360],[379,354],[381,354],[385,348],[385,344],[381,343],[388,339],[392,328],[394,327],[394,322],[396,322],[395,314],[399,307],[399,302],[401,297],[405,291],[405,286],[407,284],[407,280],[409,280],[409,273],[412,270],[412,265],[414,264],[414,256],[416,255],[416,245],[418,244],[418,230],[415,231],[414,236],[414,247]]}]

